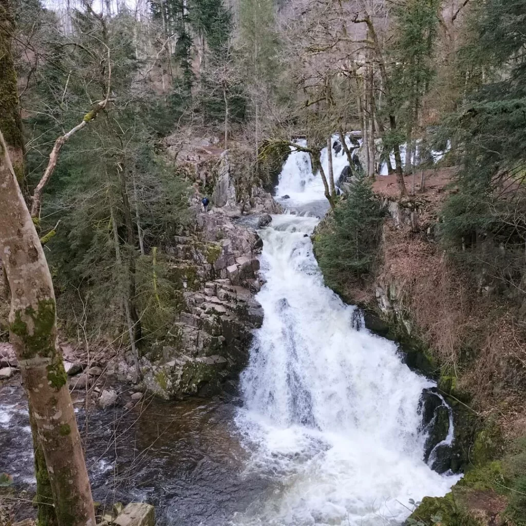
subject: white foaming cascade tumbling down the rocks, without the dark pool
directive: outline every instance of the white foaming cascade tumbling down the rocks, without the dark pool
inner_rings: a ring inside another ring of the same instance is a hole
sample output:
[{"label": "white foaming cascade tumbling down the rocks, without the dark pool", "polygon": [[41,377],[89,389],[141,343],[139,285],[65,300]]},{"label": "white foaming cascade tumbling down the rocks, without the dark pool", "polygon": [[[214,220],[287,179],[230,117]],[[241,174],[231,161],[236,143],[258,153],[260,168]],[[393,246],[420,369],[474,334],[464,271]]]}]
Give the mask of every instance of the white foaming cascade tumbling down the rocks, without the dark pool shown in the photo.
[{"label": "white foaming cascade tumbling down the rocks, without the dark pool", "polygon": [[[292,153],[278,195],[320,199],[317,179],[306,154]],[[235,524],[397,523],[410,499],[443,495],[458,480],[423,461],[419,400],[433,383],[323,285],[309,237],[317,222],[284,214],[260,232],[265,319],[236,423],[251,451],[246,471],[274,483]]]}]

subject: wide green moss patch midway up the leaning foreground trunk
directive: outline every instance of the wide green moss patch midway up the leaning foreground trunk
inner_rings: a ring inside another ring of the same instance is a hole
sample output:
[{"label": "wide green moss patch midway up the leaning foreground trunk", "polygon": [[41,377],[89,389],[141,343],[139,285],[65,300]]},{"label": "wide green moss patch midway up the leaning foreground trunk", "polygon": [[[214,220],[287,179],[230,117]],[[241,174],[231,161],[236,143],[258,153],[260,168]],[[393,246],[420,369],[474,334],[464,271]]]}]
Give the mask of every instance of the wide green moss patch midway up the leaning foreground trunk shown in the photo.
[{"label": "wide green moss patch midway up the leaning foreground trunk", "polygon": [[24,342],[23,358],[55,355],[55,309],[55,300],[48,298],[38,302],[37,310],[26,307],[15,312],[15,320],[9,325],[9,330]]}]

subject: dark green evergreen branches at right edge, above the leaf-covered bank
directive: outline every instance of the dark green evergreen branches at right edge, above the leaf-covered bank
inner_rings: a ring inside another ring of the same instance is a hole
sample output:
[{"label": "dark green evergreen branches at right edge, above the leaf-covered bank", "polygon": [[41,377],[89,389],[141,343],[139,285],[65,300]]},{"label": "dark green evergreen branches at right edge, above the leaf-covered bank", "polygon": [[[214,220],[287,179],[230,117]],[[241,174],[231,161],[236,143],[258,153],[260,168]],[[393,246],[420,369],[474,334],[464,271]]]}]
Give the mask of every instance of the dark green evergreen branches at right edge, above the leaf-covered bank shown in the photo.
[{"label": "dark green evergreen branches at right edge, above the leaf-covered bank", "polygon": [[441,136],[458,145],[458,192],[443,209],[442,241],[479,272],[524,290],[526,68],[524,0],[489,0],[470,19],[459,66],[468,80]]}]

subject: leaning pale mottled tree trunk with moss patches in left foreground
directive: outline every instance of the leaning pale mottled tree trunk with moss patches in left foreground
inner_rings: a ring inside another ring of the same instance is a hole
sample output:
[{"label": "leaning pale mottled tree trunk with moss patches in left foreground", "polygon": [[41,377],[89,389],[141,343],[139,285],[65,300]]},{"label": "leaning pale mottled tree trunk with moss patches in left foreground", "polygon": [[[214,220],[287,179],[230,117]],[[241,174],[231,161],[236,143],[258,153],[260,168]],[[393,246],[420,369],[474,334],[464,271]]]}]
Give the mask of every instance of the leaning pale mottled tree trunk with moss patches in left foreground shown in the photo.
[{"label": "leaning pale mottled tree trunk with moss patches in left foreground", "polygon": [[0,187],[0,254],[12,291],[9,337],[36,421],[57,521],[94,526],[92,492],[57,345],[53,282],[1,131]]}]

